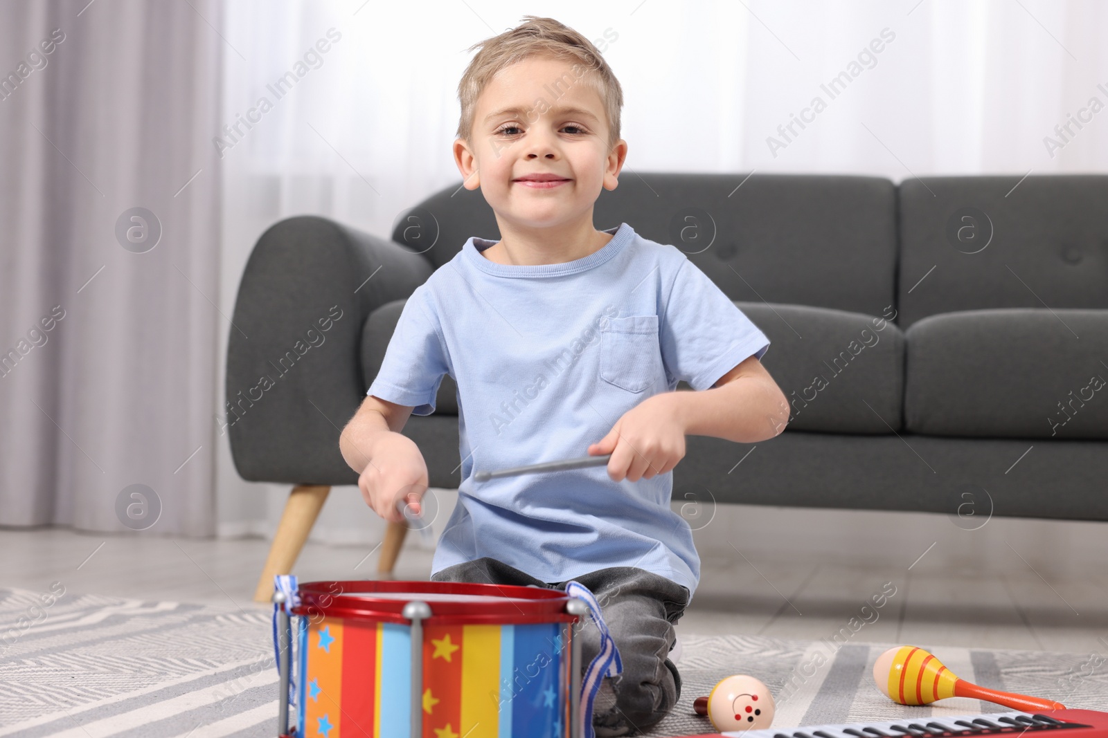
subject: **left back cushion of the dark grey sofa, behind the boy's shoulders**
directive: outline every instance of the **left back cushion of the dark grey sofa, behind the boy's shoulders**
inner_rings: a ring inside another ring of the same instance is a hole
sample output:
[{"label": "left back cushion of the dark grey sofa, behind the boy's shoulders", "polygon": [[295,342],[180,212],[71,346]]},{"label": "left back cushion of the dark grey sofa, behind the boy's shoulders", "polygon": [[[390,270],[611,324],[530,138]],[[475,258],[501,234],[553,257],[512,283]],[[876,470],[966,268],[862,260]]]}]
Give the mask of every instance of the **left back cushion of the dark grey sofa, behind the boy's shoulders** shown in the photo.
[{"label": "left back cushion of the dark grey sofa, behind the boy's shoulders", "polygon": [[[731,300],[882,315],[894,300],[895,218],[895,186],[879,177],[625,169],[615,190],[601,191],[593,222],[627,222],[678,247]],[[496,240],[500,230],[481,191],[460,185],[410,210],[393,232],[435,268],[470,236]]]}]

